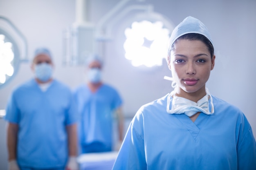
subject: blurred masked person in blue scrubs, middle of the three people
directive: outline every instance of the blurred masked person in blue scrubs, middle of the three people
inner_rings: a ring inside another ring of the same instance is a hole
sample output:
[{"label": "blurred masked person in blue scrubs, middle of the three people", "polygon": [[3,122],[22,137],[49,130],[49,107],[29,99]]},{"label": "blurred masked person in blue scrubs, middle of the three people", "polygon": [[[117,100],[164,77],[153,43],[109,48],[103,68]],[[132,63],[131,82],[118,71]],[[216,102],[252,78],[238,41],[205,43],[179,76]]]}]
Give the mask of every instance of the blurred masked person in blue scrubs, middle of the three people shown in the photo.
[{"label": "blurred masked person in blue scrubs, middle of the three people", "polygon": [[[118,119],[119,144],[123,140],[122,99],[112,86],[101,79],[102,60],[92,55],[87,60],[88,83],[74,91],[80,115],[79,152],[109,152],[115,150],[113,144],[113,118]],[[117,147],[118,148],[118,147]],[[119,149],[119,148],[118,148]]]}]

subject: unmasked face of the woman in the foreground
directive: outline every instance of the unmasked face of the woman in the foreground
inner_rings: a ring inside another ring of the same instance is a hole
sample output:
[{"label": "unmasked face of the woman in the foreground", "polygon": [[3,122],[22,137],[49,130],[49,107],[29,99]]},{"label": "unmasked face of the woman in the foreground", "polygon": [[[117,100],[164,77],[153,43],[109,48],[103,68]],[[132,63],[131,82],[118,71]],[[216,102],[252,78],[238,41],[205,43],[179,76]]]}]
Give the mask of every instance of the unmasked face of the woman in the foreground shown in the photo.
[{"label": "unmasked face of the woman in the foreground", "polygon": [[200,40],[179,40],[174,47],[168,66],[177,84],[177,95],[186,97],[195,93],[203,97],[215,55],[211,59],[207,46]]}]

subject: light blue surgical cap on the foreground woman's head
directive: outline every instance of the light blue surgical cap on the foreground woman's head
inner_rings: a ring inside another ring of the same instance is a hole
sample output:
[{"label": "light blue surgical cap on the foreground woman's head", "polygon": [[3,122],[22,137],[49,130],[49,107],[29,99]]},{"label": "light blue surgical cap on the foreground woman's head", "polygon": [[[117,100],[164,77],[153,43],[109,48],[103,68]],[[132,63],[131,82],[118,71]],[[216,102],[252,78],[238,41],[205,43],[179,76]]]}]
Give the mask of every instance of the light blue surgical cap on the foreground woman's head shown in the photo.
[{"label": "light blue surgical cap on the foreground woman's head", "polygon": [[211,35],[207,27],[200,20],[189,16],[186,17],[180,24],[178,24],[173,29],[171,38],[169,40],[169,48],[171,48],[177,38],[188,33],[198,33],[204,35],[210,40],[211,44],[213,45]]}]

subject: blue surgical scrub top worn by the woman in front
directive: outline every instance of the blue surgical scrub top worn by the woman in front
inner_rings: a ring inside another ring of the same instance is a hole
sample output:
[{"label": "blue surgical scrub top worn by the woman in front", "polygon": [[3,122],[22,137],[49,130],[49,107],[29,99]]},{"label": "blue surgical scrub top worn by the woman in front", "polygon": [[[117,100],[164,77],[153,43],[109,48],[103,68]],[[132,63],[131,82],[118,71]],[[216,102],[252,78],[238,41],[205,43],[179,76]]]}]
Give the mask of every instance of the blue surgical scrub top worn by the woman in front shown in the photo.
[{"label": "blue surgical scrub top worn by the woman in front", "polygon": [[213,97],[214,114],[193,122],[168,114],[167,97],[138,110],[113,170],[256,170],[255,138],[238,108]]}]

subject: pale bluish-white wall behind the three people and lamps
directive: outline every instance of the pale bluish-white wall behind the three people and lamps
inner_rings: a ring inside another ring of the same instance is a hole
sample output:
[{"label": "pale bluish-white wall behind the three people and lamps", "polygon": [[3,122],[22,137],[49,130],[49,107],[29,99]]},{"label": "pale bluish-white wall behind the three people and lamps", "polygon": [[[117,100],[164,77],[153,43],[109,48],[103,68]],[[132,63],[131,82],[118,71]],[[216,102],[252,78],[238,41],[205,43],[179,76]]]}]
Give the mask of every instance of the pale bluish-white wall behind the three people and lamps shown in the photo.
[{"label": "pale bluish-white wall behind the three people and lamps", "polygon": [[[130,0],[129,4],[135,2]],[[89,19],[97,23],[119,0],[90,0]],[[200,19],[211,32],[216,50],[216,66],[207,86],[211,94],[238,106],[247,116],[256,136],[255,78],[256,1],[254,0],[146,0],[155,11],[167,16],[175,26],[186,16]],[[84,68],[62,66],[63,30],[75,20],[75,0],[0,0],[0,15],[9,18],[28,41],[29,58],[38,46],[48,46],[54,55],[54,76],[71,88],[84,82]],[[134,115],[139,106],[172,90],[164,75],[166,64],[153,70],[133,68],[124,58],[124,35],[116,25],[114,39],[106,44],[104,79],[124,98],[124,112]],[[121,27],[120,27],[121,28]],[[0,88],[0,109],[4,109],[12,89],[31,78],[29,63],[20,64],[18,74]],[[0,120],[0,169],[7,168],[4,121]]]}]

